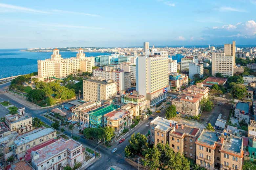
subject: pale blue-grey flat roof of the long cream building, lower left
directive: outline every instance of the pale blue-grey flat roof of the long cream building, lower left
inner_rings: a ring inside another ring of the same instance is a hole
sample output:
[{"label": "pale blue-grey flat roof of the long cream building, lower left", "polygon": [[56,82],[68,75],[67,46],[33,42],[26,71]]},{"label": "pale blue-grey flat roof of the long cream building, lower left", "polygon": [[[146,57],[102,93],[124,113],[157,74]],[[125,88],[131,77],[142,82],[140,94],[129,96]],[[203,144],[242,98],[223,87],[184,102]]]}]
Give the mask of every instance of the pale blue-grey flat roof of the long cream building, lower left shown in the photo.
[{"label": "pale blue-grey flat roof of the long cream building, lower left", "polygon": [[31,142],[41,136],[45,136],[47,134],[50,134],[52,132],[54,132],[55,130],[52,129],[52,128],[46,128],[46,129],[42,129],[41,131],[36,131],[34,133],[31,133],[31,134],[27,134],[26,136],[18,136],[16,137],[17,140],[13,141],[13,143],[16,145],[16,146],[20,146],[20,145],[23,145],[23,144],[26,144],[28,142]]}]

